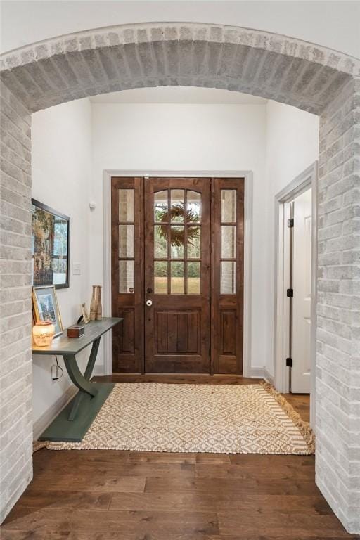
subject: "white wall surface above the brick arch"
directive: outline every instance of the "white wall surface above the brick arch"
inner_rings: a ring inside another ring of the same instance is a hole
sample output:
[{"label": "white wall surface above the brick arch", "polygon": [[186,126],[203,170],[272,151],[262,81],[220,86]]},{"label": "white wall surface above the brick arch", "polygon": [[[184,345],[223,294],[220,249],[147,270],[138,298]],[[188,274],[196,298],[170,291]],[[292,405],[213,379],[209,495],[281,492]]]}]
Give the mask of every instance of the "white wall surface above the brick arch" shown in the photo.
[{"label": "white wall surface above the brick arch", "polygon": [[277,32],[360,56],[356,1],[3,0],[1,15],[1,51],[108,25],[187,21]]}]

